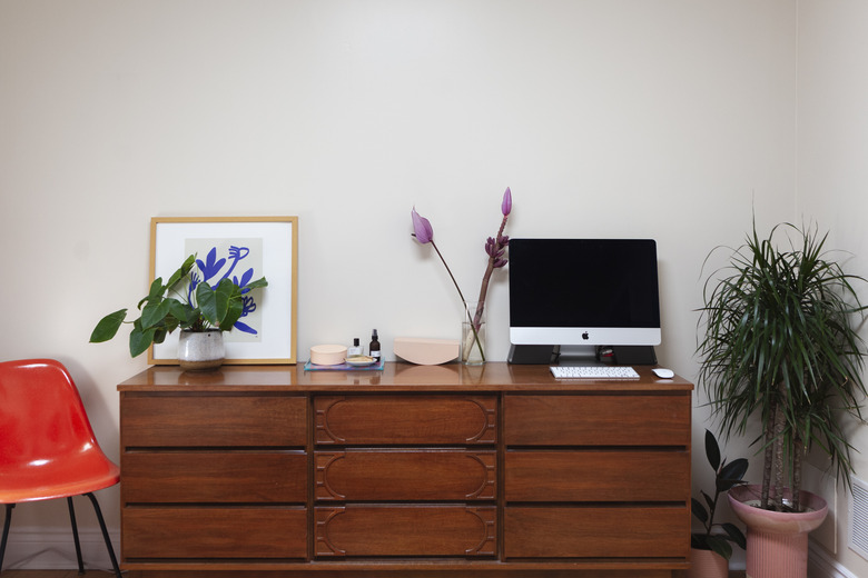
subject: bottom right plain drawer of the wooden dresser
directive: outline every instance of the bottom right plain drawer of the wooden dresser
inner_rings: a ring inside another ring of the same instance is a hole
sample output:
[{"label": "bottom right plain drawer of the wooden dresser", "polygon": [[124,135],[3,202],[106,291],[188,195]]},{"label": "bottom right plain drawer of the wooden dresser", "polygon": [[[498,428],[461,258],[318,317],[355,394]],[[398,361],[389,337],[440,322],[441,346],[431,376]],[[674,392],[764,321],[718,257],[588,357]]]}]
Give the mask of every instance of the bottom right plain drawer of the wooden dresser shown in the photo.
[{"label": "bottom right plain drawer of the wooden dresser", "polygon": [[507,507],[509,558],[682,558],[690,512],[680,507]]}]

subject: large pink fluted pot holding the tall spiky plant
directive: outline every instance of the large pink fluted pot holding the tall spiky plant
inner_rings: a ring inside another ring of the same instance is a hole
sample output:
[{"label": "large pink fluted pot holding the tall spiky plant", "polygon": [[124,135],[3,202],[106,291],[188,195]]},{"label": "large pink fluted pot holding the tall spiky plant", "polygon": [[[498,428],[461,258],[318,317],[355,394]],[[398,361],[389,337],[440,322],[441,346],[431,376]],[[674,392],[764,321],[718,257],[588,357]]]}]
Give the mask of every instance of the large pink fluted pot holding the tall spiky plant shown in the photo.
[{"label": "large pink fluted pot holding the tall spiky plant", "polygon": [[732,511],[748,527],[748,578],[807,578],[808,534],[826,519],[826,500],[802,491],[807,511],[768,511],[751,505],[759,502],[760,491],[760,486],[739,486],[728,495]]}]

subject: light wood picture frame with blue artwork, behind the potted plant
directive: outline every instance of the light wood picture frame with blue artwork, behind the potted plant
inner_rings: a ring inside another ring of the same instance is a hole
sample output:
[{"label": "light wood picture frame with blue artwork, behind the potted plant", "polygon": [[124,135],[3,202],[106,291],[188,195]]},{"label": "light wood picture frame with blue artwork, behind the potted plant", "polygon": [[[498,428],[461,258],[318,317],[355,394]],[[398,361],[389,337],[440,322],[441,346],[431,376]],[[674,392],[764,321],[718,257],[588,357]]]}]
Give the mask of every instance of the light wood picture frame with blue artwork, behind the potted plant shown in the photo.
[{"label": "light wood picture frame with blue artwork, behind the potted plant", "polygon": [[[298,217],[151,219],[149,280],[168,279],[193,253],[206,266],[205,272],[197,271],[206,281],[227,276],[268,281],[268,287],[251,291],[245,316],[224,333],[224,363],[296,363]],[[178,333],[151,346],[148,362],[177,365]]]}]

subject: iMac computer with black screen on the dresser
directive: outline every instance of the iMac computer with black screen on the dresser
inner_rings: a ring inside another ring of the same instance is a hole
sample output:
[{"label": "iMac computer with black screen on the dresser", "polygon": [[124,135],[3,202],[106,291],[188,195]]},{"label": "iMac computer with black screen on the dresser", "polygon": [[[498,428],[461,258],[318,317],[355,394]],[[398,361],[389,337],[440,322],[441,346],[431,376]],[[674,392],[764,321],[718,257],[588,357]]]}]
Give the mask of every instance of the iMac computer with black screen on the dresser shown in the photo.
[{"label": "iMac computer with black screen on the dresser", "polygon": [[652,239],[510,239],[511,363],[653,363]]}]

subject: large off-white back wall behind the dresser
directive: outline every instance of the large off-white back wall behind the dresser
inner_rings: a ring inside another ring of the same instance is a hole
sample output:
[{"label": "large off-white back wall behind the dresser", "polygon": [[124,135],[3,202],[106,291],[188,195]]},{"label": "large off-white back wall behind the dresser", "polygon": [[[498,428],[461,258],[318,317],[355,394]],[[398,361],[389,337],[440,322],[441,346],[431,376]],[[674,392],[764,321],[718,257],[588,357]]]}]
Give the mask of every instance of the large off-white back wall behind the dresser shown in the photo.
[{"label": "large off-white back wall behind the dresser", "polygon": [[[511,236],[658,239],[658,355],[693,378],[706,253],[739,243],[751,211],[761,228],[796,215],[796,8],[0,0],[0,357],[68,363],[117,457],[115,388],[145,360],[87,341],[144,295],[151,217],[297,215],[299,359],[374,327],[391,352],[457,332],[411,208],[473,295],[510,186]],[[500,360],[504,281],[489,293]],[[117,528],[117,490],[102,500]],[[32,505],[14,525],[65,516]]]}]

